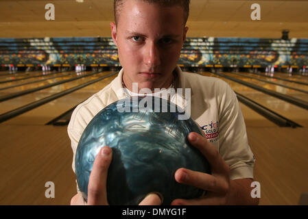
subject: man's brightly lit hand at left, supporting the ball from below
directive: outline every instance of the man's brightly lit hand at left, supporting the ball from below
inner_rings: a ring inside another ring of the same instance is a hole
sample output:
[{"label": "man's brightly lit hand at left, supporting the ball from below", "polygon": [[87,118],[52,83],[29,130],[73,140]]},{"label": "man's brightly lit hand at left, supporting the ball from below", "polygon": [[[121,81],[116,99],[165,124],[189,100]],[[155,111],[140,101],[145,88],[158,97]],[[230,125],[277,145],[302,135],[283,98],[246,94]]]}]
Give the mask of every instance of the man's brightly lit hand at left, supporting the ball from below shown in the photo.
[{"label": "man's brightly lit hand at left, supporting the ball from below", "polygon": [[[106,182],[111,159],[112,150],[110,147],[104,146],[93,163],[88,181],[88,203],[84,202],[84,198],[79,192],[71,198],[71,205],[108,205]],[[155,193],[150,193],[139,205],[161,205],[161,198]]]}]

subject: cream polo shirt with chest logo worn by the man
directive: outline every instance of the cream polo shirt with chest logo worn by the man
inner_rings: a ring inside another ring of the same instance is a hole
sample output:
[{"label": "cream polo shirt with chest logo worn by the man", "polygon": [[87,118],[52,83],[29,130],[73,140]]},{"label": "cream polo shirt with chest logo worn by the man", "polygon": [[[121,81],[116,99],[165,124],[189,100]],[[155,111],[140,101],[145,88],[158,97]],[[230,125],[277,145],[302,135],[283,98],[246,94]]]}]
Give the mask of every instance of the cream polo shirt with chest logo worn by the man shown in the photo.
[{"label": "cream polo shirt with chest logo worn by the man", "polygon": [[[181,107],[186,107],[187,103],[191,105],[191,118],[200,125],[206,138],[230,166],[230,179],[253,178],[254,155],[248,145],[246,126],[235,92],[226,82],[215,77],[185,73],[178,66],[176,74],[175,88],[182,88],[183,92],[182,95],[171,92],[170,101],[176,101]],[[74,172],[78,141],[86,125],[104,107],[127,97],[122,86],[122,76],[123,69],[104,89],[73,111],[67,131],[73,149]],[[185,92],[187,89],[190,95]]]}]

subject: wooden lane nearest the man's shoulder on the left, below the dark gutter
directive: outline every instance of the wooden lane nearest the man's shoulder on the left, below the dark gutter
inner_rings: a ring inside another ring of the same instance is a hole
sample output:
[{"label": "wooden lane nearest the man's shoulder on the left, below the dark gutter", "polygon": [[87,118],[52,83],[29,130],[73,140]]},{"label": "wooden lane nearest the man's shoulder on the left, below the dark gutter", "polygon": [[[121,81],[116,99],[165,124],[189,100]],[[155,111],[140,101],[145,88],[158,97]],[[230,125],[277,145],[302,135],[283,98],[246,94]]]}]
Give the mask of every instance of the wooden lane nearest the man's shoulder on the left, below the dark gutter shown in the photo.
[{"label": "wooden lane nearest the man's shoulder on the left, below the dark gutter", "polygon": [[[106,73],[107,75],[111,72]],[[45,125],[49,121],[53,120],[57,116],[60,116],[64,112],[71,110],[72,107],[78,105],[82,101],[88,99],[99,90],[102,90],[108,85],[117,75],[107,77],[101,81],[97,81],[89,86],[86,86],[80,90],[76,90],[71,94],[62,96],[54,101],[36,107],[34,110],[30,110],[24,114],[11,118],[5,121],[3,124],[17,124],[17,125]]]}]

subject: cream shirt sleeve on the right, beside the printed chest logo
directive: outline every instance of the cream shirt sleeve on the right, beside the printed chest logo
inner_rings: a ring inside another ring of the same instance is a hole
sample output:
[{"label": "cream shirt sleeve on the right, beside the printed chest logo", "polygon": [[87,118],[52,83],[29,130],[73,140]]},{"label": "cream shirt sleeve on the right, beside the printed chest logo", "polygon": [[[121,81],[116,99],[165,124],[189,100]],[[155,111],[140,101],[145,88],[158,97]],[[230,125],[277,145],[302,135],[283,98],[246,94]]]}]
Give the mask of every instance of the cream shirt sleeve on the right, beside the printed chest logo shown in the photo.
[{"label": "cream shirt sleeve on the right, beside the printed chest logo", "polygon": [[248,144],[244,117],[235,92],[225,85],[219,120],[220,155],[230,167],[230,179],[253,179],[255,159]]}]

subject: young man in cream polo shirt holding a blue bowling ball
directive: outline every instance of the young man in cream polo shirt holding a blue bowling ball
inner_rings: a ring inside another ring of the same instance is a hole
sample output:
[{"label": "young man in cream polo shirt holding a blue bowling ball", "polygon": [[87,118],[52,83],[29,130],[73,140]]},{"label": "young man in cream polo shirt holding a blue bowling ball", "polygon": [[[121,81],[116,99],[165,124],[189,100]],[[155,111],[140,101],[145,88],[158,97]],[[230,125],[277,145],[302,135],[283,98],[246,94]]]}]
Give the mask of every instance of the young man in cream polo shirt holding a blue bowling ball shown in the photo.
[{"label": "young man in cream polo shirt holding a blue bowling ball", "polygon": [[[183,73],[177,66],[188,30],[185,27],[188,14],[189,0],[115,0],[115,23],[110,25],[122,69],[115,80],[72,114],[68,133],[74,155],[73,170],[82,131],[106,105],[143,88],[151,92],[155,88],[166,88],[163,92],[171,88],[189,89],[191,118],[202,127],[207,139],[197,133],[190,133],[188,138],[209,160],[212,175],[178,169],[174,175],[178,183],[208,192],[198,199],[176,199],[171,204],[258,204],[259,199],[250,196],[254,158],[235,93],[220,79]],[[133,89],[133,83],[137,83],[137,90]],[[170,101],[182,99],[184,105],[187,103],[187,96],[169,94]],[[111,159],[112,150],[104,146],[93,164],[87,204],[108,204],[106,176]],[[156,194],[150,194],[141,204],[160,203]],[[72,198],[71,204],[84,204],[80,193]]]}]

